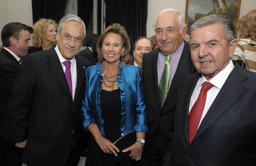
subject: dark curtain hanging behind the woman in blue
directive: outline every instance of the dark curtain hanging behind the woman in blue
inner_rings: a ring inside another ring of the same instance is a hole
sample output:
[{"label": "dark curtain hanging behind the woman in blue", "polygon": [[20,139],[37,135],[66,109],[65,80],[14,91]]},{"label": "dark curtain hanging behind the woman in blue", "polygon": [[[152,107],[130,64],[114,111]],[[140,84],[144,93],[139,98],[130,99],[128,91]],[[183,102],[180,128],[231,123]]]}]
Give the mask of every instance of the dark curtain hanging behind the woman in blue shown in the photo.
[{"label": "dark curtain hanging behind the woman in blue", "polygon": [[112,23],[123,25],[131,39],[131,55],[133,45],[140,36],[146,36],[148,0],[105,0],[108,16]]}]

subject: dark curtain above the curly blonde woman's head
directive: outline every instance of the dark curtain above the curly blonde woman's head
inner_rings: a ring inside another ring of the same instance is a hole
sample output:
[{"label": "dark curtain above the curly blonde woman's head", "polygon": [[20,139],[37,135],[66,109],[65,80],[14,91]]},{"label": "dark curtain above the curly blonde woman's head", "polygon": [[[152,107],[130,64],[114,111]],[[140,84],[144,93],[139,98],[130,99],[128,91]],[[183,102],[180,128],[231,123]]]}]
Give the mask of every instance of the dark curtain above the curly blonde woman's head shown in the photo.
[{"label": "dark curtain above the curly blonde woman's head", "polygon": [[55,20],[59,23],[64,16],[67,0],[32,0],[33,24],[40,18]]}]

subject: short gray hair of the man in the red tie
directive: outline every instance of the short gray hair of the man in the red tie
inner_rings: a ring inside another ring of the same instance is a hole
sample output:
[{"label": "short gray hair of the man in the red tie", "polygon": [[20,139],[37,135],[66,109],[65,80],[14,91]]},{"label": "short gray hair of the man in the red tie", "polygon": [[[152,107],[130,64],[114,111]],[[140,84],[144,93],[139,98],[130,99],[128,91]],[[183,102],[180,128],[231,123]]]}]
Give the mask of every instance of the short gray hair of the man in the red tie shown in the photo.
[{"label": "short gray hair of the man in the red tie", "polygon": [[235,26],[233,21],[227,17],[226,15],[208,15],[205,17],[202,17],[198,19],[193,25],[191,25],[191,35],[193,31],[197,28],[203,27],[203,26],[209,26],[214,24],[222,24],[224,26],[225,30],[225,39],[228,43],[231,42],[231,40],[235,39]]}]

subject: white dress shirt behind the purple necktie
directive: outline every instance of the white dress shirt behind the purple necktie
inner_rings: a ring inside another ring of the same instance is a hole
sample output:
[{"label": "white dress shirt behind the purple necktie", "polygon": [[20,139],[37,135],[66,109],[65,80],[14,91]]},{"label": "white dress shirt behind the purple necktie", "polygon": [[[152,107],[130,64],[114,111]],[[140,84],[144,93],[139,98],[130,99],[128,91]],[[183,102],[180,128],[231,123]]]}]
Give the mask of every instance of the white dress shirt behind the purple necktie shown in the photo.
[{"label": "white dress shirt behind the purple necktie", "polygon": [[71,62],[70,72],[71,72],[71,79],[72,79],[72,94],[73,94],[72,98],[74,100],[76,86],[77,86],[77,62],[76,62],[76,58],[74,57],[71,60],[66,60],[65,58],[63,58],[63,56],[59,52],[58,45],[56,45],[55,51],[56,51],[56,53],[59,57],[59,60],[60,60],[60,63],[62,65],[62,69],[63,69],[64,73],[65,73],[65,70],[66,70],[66,66],[63,64],[63,62],[65,62],[65,61],[70,61]]}]

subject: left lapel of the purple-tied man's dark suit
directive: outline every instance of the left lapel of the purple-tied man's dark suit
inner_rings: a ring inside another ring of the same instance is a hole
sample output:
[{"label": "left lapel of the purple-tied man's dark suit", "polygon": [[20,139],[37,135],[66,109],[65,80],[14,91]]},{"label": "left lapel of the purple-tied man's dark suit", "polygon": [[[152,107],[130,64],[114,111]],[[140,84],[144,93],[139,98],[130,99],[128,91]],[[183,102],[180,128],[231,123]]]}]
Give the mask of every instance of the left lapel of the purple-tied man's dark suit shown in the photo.
[{"label": "left lapel of the purple-tied man's dark suit", "polygon": [[[49,61],[47,61],[47,64],[52,71],[53,75],[56,77],[58,82],[61,84],[61,86],[64,88],[64,90],[67,92],[68,96],[72,99],[66,76],[63,72],[62,65],[60,63],[59,57],[54,49],[54,46],[49,49],[51,54],[47,55],[47,57],[50,58]],[[73,99],[72,99],[73,100]]]}]

